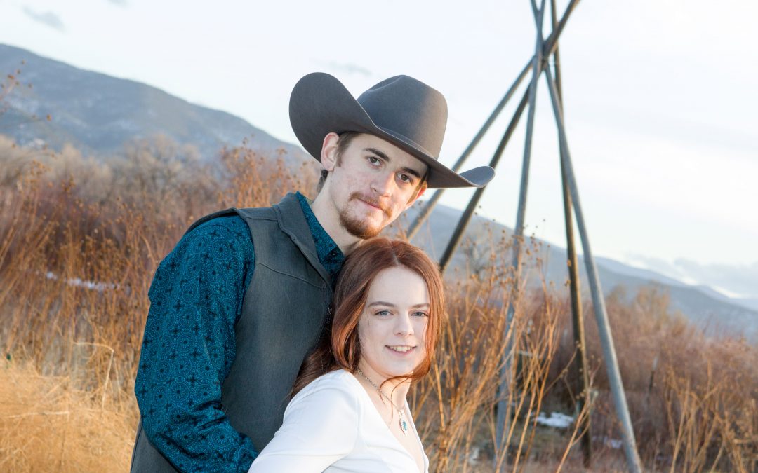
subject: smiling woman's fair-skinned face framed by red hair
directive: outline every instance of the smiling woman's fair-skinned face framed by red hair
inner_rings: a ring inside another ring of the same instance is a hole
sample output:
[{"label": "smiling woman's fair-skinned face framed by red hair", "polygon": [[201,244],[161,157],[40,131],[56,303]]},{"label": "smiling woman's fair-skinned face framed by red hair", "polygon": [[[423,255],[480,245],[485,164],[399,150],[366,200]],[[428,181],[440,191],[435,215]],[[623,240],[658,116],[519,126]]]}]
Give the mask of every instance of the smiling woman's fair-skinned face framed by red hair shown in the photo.
[{"label": "smiling woman's fair-skinned face framed by red hair", "polygon": [[424,279],[404,266],[379,272],[368,288],[358,322],[362,369],[382,380],[411,374],[426,356],[428,322],[429,290]]}]

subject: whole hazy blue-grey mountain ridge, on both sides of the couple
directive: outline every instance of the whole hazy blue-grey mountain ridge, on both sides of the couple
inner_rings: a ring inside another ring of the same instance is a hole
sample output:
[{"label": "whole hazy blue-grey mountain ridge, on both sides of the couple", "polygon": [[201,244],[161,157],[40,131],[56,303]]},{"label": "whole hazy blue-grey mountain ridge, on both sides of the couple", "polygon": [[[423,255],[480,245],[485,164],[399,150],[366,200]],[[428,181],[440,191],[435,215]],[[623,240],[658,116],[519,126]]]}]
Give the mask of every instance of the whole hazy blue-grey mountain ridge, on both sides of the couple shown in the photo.
[{"label": "whole hazy blue-grey mountain ridge, on both sides of the couple", "polygon": [[[25,61],[25,64],[21,64]],[[205,160],[213,160],[224,146],[248,145],[265,154],[285,151],[290,165],[312,158],[298,145],[280,142],[262,129],[240,117],[191,104],[161,89],[130,79],[117,79],[94,71],[80,70],[61,61],[42,58],[30,51],[0,44],[0,72],[23,67],[20,79],[33,87],[21,87],[8,95],[2,120],[19,123],[10,132],[0,123],[0,133],[11,135],[19,145],[49,145],[60,149],[65,143],[82,151],[107,157],[121,151],[124,143],[135,138],[166,135],[181,145],[193,145]],[[52,120],[45,120],[47,114]],[[32,117],[37,117],[33,119]],[[418,210],[416,204],[406,215],[410,221]],[[437,206],[415,242],[432,255],[442,254],[452,235],[460,211]],[[486,227],[493,232],[512,235],[499,223],[475,216],[465,238],[476,241]],[[494,229],[492,227],[494,226]],[[546,251],[545,277],[556,288],[568,278],[565,249],[538,241]],[[458,251],[451,267],[471,263],[471,257]],[[467,260],[468,258],[468,260]],[[635,291],[650,282],[669,292],[672,309],[681,310],[701,325],[719,319],[729,330],[740,331],[746,338],[758,340],[758,300],[735,300],[711,288],[697,288],[650,269],[634,268],[609,258],[598,257],[597,266],[606,294],[617,285]],[[584,263],[580,263],[581,287],[587,290]]]}]

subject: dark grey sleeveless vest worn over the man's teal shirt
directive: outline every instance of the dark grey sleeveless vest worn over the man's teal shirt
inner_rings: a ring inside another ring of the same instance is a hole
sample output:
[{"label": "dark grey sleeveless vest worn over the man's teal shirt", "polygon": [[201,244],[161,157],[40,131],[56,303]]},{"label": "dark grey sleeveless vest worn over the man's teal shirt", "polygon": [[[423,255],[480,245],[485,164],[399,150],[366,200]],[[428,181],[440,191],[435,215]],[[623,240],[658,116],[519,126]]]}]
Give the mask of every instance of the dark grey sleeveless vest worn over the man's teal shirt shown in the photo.
[{"label": "dark grey sleeveless vest worn over the man's teal shirt", "polygon": [[[260,451],[280,428],[302,360],[321,336],[331,281],[294,194],[274,207],[213,213],[187,232],[234,213],[250,228],[255,269],[235,325],[236,358],[221,386],[221,404],[233,428]],[[131,471],[176,471],[149,443],[142,421]]]}]

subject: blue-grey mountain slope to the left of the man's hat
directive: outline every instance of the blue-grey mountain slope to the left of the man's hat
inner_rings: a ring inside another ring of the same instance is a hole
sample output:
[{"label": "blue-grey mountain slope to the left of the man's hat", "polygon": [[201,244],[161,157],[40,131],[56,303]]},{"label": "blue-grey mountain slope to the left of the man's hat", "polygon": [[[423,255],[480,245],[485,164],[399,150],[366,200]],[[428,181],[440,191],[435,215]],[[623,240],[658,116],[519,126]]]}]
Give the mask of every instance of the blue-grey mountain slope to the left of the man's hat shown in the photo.
[{"label": "blue-grey mountain slope to the left of the man's hat", "polygon": [[17,126],[0,127],[0,132],[19,145],[42,141],[60,151],[70,143],[89,154],[107,155],[120,152],[135,138],[160,133],[180,145],[195,146],[203,160],[243,140],[256,151],[283,149],[296,162],[308,159],[298,146],[280,142],[233,114],[192,104],[135,80],[81,70],[0,44],[0,72],[16,70],[23,83],[5,98],[3,118]]}]

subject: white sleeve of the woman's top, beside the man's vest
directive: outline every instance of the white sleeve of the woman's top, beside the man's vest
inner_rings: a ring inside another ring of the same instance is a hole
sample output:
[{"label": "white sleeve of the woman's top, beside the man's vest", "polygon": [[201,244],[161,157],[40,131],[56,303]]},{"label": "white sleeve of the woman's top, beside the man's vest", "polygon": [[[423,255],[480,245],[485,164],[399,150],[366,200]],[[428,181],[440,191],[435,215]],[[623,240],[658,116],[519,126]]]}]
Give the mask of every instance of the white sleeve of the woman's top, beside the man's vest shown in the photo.
[{"label": "white sleeve of the woman's top, beside the man's vest", "polygon": [[359,430],[359,403],[339,377],[318,378],[284,412],[283,425],[249,473],[324,471],[350,453]]}]

